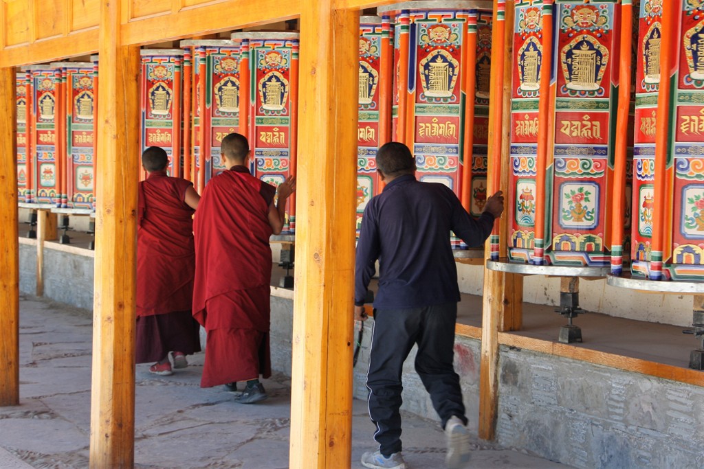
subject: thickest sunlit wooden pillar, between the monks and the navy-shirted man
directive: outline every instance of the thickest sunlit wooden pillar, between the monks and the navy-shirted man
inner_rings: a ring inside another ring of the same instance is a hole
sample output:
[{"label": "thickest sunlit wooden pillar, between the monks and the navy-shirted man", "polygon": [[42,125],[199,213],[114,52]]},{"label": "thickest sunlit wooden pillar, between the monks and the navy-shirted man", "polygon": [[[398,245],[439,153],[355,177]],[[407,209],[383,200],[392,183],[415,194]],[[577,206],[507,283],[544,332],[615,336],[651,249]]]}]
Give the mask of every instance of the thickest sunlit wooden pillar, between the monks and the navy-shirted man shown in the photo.
[{"label": "thickest sunlit wooden pillar, between the monks and the navy-shirted man", "polygon": [[349,468],[358,11],[301,15],[290,467]]}]

